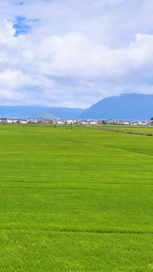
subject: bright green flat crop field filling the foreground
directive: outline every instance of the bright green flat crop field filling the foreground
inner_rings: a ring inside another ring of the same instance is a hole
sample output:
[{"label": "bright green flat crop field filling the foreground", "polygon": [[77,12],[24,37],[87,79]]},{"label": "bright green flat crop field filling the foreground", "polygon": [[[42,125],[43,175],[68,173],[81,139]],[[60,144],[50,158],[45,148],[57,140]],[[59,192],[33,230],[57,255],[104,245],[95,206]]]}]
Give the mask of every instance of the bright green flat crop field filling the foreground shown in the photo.
[{"label": "bright green flat crop field filling the foreground", "polygon": [[153,270],[153,137],[0,126],[1,271]]}]

